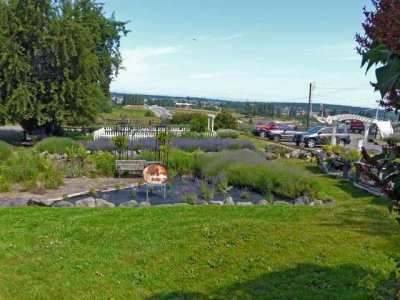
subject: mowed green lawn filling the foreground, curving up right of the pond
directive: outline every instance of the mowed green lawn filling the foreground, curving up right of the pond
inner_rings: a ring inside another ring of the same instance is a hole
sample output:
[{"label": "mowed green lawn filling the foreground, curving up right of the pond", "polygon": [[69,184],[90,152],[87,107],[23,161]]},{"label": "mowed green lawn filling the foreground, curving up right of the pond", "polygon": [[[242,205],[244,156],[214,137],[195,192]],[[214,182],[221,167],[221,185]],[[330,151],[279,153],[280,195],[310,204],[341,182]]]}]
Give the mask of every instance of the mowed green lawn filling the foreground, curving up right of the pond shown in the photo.
[{"label": "mowed green lawn filling the foreground, curving up right of the pond", "polygon": [[380,299],[399,227],[384,199],[309,170],[333,204],[0,210],[4,299]]}]

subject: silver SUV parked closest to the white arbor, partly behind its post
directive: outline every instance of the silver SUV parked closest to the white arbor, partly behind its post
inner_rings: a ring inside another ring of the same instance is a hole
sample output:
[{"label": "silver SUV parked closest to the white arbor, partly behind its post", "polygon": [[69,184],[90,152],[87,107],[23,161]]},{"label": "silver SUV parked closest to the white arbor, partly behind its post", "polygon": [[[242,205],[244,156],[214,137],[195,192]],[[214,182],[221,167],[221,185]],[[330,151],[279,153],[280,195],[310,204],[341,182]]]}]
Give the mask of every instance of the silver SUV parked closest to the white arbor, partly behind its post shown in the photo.
[{"label": "silver SUV parked closest to the white arbor, partly behind its post", "polygon": [[[329,144],[332,140],[333,127],[317,126],[309,129],[307,132],[295,134],[293,141],[296,145],[304,143],[308,148]],[[338,128],[336,139],[340,146],[350,144],[350,135],[345,128]]]}]

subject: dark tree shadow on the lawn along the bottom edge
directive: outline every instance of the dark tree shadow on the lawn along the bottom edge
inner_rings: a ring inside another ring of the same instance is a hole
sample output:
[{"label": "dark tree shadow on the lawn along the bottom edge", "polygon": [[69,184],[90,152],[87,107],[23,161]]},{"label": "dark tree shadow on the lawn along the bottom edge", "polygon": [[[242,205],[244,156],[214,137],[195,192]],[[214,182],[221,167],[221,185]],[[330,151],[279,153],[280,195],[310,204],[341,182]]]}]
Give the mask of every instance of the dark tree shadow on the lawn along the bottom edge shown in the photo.
[{"label": "dark tree shadow on the lawn along the bottom edge", "polygon": [[385,278],[382,273],[353,265],[329,268],[301,264],[226,288],[210,289],[207,295],[176,291],[148,299],[385,299],[394,296],[395,287],[394,274]]}]

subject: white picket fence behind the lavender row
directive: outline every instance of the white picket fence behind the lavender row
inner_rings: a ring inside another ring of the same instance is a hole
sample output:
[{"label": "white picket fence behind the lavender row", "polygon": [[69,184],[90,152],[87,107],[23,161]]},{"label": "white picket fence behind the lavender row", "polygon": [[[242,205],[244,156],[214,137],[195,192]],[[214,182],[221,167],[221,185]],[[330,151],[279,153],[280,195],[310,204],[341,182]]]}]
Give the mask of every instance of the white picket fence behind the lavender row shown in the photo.
[{"label": "white picket fence behind the lavender row", "polygon": [[[157,134],[156,127],[125,128],[121,129],[121,131],[128,137],[129,140],[154,138]],[[93,133],[93,139],[95,141],[100,139],[111,140],[113,137],[120,135],[121,131],[116,131],[113,127],[103,127]],[[171,127],[169,128],[169,132],[175,136],[180,136],[190,132],[190,129],[185,127]],[[203,133],[203,135],[206,137],[215,137],[217,134],[215,131],[210,131]]]}]

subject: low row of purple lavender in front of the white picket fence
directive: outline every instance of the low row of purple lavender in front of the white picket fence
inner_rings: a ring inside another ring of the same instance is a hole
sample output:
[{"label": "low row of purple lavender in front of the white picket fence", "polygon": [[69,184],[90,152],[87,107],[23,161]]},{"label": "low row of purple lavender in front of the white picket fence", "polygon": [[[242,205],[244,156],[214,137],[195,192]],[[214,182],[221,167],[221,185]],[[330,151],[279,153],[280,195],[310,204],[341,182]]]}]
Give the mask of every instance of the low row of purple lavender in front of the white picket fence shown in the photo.
[{"label": "low row of purple lavender in front of the white picket fence", "polygon": [[[155,148],[155,139],[142,139],[129,141],[129,150],[152,150]],[[234,139],[191,139],[191,138],[173,138],[170,141],[171,146],[187,152],[201,150],[204,152],[219,152],[222,150],[250,149],[254,150],[253,143]],[[113,141],[99,139],[86,143],[89,151],[112,151],[115,149]]]}]

